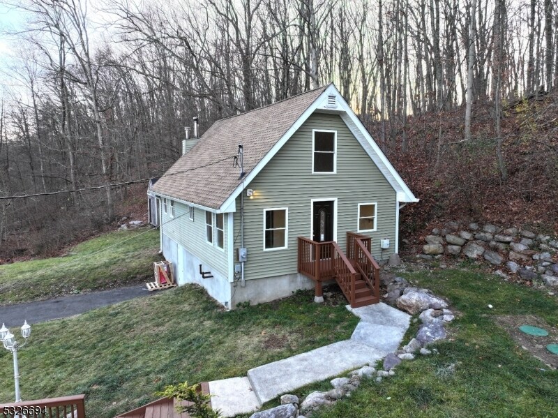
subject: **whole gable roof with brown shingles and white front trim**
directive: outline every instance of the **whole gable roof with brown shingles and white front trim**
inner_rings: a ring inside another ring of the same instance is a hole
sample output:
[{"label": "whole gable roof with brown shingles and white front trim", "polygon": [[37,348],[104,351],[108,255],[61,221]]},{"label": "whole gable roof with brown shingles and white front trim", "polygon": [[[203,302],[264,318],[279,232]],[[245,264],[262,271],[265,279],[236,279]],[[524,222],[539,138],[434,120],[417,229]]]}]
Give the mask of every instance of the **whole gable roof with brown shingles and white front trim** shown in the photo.
[{"label": "whole gable roof with brown shingles and white front trim", "polygon": [[[418,201],[333,84],[216,121],[151,191],[205,209],[235,211],[239,193],[310,114],[328,107],[327,96],[332,94],[337,98],[345,124],[398,193],[398,200]],[[242,179],[240,170],[232,166],[239,144],[244,148],[246,174]]]}]

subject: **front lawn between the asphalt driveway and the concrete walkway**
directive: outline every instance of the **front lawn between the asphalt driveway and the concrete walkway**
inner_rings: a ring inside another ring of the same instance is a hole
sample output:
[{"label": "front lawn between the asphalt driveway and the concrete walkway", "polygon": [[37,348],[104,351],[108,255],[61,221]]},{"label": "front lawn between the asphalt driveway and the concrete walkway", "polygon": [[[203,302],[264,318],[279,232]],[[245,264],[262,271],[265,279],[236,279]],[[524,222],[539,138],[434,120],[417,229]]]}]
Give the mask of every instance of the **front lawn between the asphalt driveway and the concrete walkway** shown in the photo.
[{"label": "front lawn between the asphalt driveway and the concrete walkway", "polygon": [[[22,398],[86,394],[88,417],[112,418],[165,385],[246,375],[248,369],[349,338],[344,304],[297,292],[223,311],[192,285],[33,326],[20,351]],[[0,402],[13,399],[11,355],[0,350]]]}]

